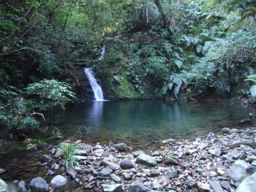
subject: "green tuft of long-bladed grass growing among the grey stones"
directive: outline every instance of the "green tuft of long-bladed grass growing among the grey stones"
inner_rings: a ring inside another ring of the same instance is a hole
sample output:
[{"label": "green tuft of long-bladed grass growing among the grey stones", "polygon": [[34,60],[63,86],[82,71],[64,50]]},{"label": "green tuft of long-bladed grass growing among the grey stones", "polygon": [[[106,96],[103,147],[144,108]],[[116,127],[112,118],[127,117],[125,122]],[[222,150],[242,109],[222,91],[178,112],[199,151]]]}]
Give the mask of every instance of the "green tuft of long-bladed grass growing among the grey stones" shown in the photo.
[{"label": "green tuft of long-bladed grass growing among the grey stones", "polygon": [[76,146],[72,143],[60,143],[61,153],[64,155],[64,167],[70,167],[74,169],[74,166],[77,164],[78,160],[74,157]]}]

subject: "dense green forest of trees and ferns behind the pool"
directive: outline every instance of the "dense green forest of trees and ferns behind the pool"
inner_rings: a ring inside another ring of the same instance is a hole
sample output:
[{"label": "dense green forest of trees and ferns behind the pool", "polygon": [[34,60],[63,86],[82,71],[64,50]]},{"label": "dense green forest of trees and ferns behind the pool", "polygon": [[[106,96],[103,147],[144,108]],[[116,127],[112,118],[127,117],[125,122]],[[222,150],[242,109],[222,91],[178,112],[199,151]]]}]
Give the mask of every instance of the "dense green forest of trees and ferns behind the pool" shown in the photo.
[{"label": "dense green forest of trees and ferns behind the pool", "polygon": [[107,99],[215,96],[253,104],[255,4],[1,0],[0,122],[37,127],[39,111],[87,99],[81,67],[92,67]]}]

